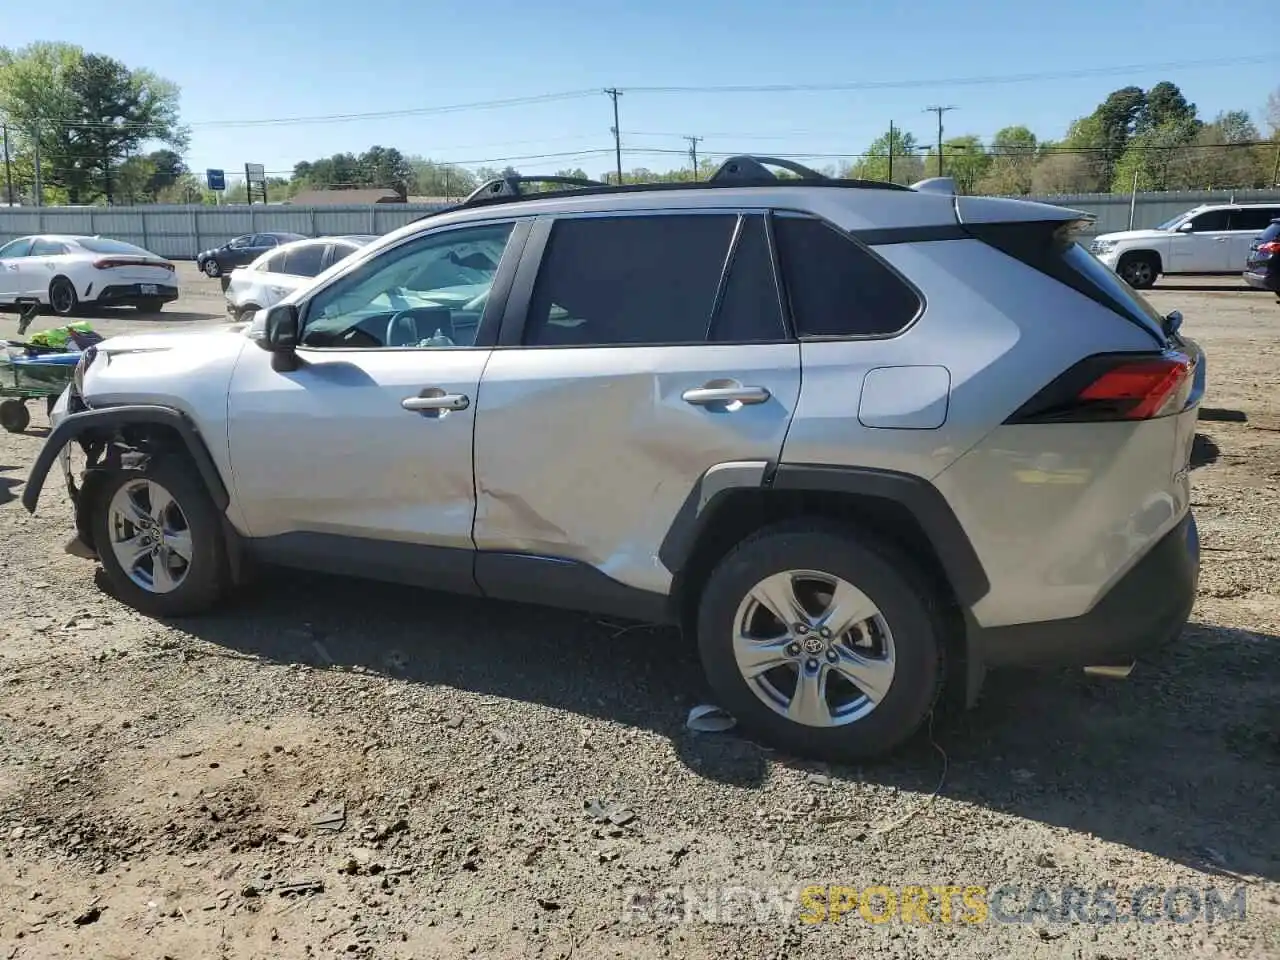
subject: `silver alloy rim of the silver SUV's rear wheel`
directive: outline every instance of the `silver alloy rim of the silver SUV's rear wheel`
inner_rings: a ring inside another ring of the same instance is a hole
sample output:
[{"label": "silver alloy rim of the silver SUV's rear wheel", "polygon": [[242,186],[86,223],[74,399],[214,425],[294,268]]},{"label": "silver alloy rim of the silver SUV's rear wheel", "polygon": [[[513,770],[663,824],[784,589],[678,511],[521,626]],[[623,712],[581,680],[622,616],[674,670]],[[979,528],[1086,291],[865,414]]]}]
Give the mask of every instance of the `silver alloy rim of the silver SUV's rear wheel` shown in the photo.
[{"label": "silver alloy rim of the silver SUV's rear wheel", "polygon": [[893,635],[879,608],[831,573],[765,577],[733,620],[733,657],[769,709],[806,727],[840,727],[876,709],[893,682]]}]

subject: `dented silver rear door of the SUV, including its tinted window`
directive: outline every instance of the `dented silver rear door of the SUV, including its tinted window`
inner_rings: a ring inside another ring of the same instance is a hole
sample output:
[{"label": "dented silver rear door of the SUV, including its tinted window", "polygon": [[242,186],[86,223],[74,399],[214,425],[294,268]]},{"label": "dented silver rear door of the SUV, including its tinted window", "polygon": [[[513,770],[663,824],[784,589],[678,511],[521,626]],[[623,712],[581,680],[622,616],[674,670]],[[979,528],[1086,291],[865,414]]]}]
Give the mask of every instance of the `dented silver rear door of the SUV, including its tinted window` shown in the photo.
[{"label": "dented silver rear door of the SUV, including its tinted window", "polygon": [[530,599],[522,554],[664,594],[681,506],[717,463],[776,461],[799,392],[760,214],[539,220],[480,387],[481,588]]}]

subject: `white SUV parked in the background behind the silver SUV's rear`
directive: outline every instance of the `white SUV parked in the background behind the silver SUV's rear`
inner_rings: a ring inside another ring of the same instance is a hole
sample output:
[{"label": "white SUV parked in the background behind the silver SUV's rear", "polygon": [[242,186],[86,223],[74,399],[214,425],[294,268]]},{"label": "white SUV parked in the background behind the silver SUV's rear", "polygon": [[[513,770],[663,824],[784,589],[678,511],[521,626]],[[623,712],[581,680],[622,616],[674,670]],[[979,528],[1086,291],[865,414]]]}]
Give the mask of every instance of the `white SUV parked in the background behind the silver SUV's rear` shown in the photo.
[{"label": "white SUV parked in the background behind the silver SUV's rear", "polygon": [[1135,289],[1162,274],[1239,274],[1277,204],[1204,204],[1147,230],[1103,233],[1091,250]]}]

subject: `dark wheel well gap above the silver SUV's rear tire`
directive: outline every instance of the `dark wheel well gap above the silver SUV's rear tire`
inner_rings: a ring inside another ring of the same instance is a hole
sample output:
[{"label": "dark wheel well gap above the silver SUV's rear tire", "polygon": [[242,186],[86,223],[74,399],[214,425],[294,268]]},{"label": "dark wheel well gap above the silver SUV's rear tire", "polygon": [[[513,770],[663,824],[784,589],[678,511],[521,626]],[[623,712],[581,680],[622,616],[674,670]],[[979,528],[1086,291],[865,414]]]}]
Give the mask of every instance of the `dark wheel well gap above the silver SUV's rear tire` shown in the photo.
[{"label": "dark wheel well gap above the silver SUV's rear tire", "polygon": [[[964,614],[938,553],[919,521],[905,506],[884,497],[817,490],[733,490],[713,504],[714,515],[676,575],[673,614],[680,626],[692,631],[703,586],[716,564],[756,530],[783,520],[828,518],[864,531],[869,538],[891,543],[919,566],[920,575],[937,591],[947,630],[947,660],[961,671],[968,662]],[[690,632],[691,635],[691,632]],[[961,687],[963,685],[956,685]]]}]

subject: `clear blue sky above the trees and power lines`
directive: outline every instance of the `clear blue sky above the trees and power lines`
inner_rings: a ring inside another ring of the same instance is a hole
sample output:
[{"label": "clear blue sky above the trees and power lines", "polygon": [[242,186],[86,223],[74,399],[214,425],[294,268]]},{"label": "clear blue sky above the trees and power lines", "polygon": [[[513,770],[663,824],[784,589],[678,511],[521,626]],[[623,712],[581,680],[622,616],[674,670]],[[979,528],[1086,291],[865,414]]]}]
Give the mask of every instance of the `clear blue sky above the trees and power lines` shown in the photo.
[{"label": "clear blue sky above the trees and power lines", "polygon": [[[959,109],[946,134],[989,138],[1025,123],[1043,138],[1116,87],[1171,79],[1202,116],[1245,109],[1261,120],[1280,84],[1280,49],[1204,0],[269,0],[156,5],[64,0],[58,26],[35,10],[5,17],[0,42],[61,40],[147,67],[182,87],[188,163],[229,173],[246,161],[287,172],[298,160],[372,143],[444,161],[507,157],[525,172],[612,169],[608,97],[326,123],[232,122],[415,110],[603,87],[732,84],[918,86],[823,92],[626,92],[623,165],[666,169],[704,137],[704,154],[856,154],[890,120],[923,142],[931,104]],[[947,82],[1142,64],[1270,58],[1228,67],[1129,69],[997,83]],[[936,83],[933,81],[937,81]],[[927,82],[927,83],[922,83]],[[590,154],[590,151],[609,151]],[[564,154],[566,156],[531,155]],[[817,157],[818,163],[833,163]]]}]

